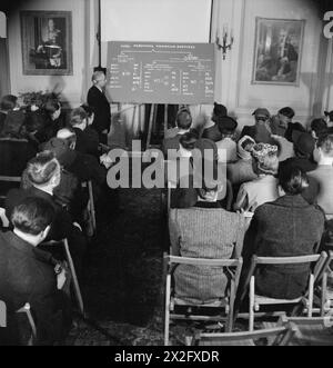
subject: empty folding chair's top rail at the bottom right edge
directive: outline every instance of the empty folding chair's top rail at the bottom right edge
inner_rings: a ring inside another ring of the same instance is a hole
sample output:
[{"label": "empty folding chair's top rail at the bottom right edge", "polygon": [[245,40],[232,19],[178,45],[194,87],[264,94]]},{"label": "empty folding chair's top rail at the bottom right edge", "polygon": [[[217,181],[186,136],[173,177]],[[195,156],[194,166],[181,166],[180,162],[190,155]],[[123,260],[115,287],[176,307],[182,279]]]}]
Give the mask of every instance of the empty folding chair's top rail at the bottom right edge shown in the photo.
[{"label": "empty folding chair's top rail at the bottom right edge", "polygon": [[268,346],[285,346],[296,334],[297,328],[292,324],[266,328],[256,331],[230,334],[195,334],[192,338],[194,346],[255,346],[255,341],[268,339]]}]

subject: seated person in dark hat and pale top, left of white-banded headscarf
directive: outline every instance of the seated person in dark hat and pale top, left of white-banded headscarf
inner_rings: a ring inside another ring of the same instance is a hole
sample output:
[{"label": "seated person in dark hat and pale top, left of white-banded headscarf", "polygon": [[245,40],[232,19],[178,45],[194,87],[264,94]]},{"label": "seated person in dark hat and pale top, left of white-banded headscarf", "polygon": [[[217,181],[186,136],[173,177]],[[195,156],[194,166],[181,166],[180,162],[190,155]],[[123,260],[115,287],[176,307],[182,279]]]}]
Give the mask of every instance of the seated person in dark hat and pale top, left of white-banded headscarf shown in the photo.
[{"label": "seated person in dark hat and pale top, left of white-banded headscarf", "polygon": [[216,142],[219,162],[234,162],[238,159],[238,146],[234,141],[238,122],[230,117],[222,117],[218,118],[218,125],[222,138]]}]

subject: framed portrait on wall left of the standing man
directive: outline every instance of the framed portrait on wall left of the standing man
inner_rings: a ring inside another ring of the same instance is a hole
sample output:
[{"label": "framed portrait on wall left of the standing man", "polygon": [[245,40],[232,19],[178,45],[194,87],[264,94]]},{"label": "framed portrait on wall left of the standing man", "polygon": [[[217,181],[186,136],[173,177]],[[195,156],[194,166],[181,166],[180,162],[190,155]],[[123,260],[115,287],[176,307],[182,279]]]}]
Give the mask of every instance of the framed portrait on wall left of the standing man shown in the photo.
[{"label": "framed portrait on wall left of the standing man", "polygon": [[71,11],[21,11],[20,21],[23,74],[72,74]]}]

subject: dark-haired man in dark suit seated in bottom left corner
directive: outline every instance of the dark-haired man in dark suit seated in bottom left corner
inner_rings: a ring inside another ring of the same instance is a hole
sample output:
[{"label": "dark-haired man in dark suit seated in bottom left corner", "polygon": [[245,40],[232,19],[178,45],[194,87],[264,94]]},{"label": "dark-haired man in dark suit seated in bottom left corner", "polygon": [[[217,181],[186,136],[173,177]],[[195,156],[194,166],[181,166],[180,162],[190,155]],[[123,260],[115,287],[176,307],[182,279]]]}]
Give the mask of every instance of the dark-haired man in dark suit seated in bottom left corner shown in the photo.
[{"label": "dark-haired man in dark suit seated in bottom left corner", "polygon": [[16,311],[26,302],[37,326],[34,344],[52,345],[69,332],[68,275],[56,266],[50,253],[38,248],[48,236],[53,216],[54,209],[47,200],[26,198],[12,210],[13,230],[0,232],[0,299],[8,314],[8,326],[0,329],[0,345],[21,344]]}]

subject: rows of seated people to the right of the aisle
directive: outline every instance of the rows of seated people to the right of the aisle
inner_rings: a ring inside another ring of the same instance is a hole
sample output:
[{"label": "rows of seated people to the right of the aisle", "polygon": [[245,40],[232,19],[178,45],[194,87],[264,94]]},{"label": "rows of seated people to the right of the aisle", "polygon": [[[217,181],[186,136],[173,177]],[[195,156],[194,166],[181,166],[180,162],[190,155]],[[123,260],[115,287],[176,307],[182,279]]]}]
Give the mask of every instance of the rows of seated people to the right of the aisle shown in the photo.
[{"label": "rows of seated people to the right of the aisle", "polygon": [[[253,255],[293,257],[324,249],[333,217],[333,111],[314,119],[309,129],[293,122],[290,107],[275,116],[258,108],[253,116],[254,125],[244,126],[236,136],[238,121],[215,103],[211,121],[200,132],[184,108],[163,141],[168,160],[179,163],[188,158],[189,165],[189,186],[181,186],[181,177],[171,186],[172,253],[242,256],[241,279]],[[226,172],[218,180],[203,178],[203,169],[195,169],[195,165],[204,166],[203,156],[195,160],[198,149],[203,153],[209,148],[214,152],[212,166]],[[195,180],[202,185],[195,187]],[[233,189],[231,206],[225,201],[226,182]],[[310,266],[265,267],[258,272],[258,294],[294,299],[306,289]],[[179,265],[174,277],[175,296],[199,305],[223,297],[228,285],[222,269],[202,266]],[[241,287],[239,295],[243,295]]]}]

